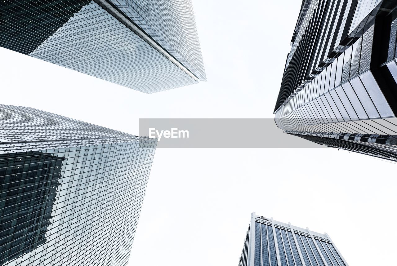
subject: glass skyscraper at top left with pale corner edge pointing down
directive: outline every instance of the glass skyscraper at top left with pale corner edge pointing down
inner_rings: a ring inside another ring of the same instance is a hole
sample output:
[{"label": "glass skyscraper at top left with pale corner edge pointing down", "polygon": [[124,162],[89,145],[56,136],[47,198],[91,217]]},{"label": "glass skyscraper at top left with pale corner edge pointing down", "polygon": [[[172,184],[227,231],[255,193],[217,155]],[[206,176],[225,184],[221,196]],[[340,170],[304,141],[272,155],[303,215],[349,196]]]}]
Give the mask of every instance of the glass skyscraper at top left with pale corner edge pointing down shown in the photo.
[{"label": "glass skyscraper at top left with pale corner edge pointing down", "polygon": [[206,81],[191,0],[5,0],[0,46],[144,93]]}]

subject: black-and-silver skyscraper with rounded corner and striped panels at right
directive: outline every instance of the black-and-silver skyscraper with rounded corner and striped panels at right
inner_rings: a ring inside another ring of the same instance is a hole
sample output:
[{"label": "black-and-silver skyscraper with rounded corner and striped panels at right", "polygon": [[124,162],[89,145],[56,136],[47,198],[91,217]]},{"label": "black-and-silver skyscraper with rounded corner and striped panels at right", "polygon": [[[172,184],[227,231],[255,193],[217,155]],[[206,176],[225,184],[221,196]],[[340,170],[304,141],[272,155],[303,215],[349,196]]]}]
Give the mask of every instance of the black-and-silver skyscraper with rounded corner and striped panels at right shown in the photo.
[{"label": "black-and-silver skyscraper with rounded corner and striped panels at right", "polygon": [[274,110],[279,128],[397,160],[396,6],[303,0]]}]

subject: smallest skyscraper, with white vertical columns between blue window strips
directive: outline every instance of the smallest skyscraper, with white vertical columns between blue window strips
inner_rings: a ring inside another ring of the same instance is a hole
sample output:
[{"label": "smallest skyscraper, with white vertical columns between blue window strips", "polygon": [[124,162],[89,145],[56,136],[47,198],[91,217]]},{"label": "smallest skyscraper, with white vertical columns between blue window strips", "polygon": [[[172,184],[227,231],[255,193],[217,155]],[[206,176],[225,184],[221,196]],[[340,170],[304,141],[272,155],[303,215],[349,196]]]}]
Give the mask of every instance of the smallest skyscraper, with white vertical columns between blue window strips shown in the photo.
[{"label": "smallest skyscraper, with white vertical columns between blue window strips", "polygon": [[251,214],[239,266],[348,266],[329,235]]}]

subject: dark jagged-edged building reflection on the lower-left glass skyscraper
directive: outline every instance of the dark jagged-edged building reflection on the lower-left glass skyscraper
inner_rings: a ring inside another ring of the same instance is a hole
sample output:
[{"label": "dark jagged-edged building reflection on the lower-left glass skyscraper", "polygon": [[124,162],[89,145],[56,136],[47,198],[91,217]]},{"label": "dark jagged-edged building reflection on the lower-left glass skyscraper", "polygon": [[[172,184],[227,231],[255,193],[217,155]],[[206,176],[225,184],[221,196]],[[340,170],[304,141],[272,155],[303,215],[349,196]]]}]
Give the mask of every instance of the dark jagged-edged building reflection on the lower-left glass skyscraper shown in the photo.
[{"label": "dark jagged-edged building reflection on the lower-left glass skyscraper", "polygon": [[64,157],[0,154],[0,265],[46,243]]}]

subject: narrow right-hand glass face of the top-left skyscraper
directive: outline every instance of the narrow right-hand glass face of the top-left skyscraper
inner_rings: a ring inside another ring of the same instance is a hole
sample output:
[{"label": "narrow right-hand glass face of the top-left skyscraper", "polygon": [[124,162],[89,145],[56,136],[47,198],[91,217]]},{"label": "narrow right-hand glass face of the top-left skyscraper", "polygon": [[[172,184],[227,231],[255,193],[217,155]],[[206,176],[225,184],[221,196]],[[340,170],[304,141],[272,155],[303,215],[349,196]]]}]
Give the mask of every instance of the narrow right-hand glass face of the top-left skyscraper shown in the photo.
[{"label": "narrow right-hand glass face of the top-left skyscraper", "polygon": [[192,71],[200,81],[206,81],[191,0],[111,2]]}]

